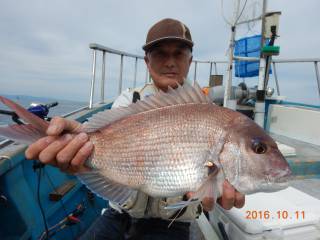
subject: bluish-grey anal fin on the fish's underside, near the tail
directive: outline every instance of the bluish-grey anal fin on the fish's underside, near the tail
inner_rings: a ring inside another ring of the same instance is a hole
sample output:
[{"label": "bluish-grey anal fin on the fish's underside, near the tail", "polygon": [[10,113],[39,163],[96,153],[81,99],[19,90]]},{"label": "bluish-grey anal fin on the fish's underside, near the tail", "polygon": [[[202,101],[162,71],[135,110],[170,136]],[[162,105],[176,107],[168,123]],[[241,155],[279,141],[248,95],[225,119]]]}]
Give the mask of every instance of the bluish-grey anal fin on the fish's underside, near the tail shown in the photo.
[{"label": "bluish-grey anal fin on the fish's underside, near the tail", "polygon": [[99,170],[77,174],[79,180],[93,193],[105,200],[122,205],[136,190],[116,183],[101,174]]}]

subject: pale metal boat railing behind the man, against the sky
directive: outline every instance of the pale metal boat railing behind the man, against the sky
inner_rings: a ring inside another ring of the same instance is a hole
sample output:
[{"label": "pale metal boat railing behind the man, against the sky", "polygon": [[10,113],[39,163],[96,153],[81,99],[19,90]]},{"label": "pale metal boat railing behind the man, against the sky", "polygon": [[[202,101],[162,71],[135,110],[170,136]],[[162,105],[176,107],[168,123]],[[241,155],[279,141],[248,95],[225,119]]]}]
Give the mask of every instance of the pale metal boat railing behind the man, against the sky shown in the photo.
[{"label": "pale metal boat railing behind the man, against the sky", "polygon": [[[137,72],[138,72],[138,61],[144,61],[144,56],[137,55],[137,54],[131,54],[124,51],[115,50],[100,44],[91,43],[89,45],[90,49],[93,51],[93,60],[92,60],[92,77],[91,77],[91,86],[90,86],[90,99],[89,99],[89,108],[93,107],[93,99],[94,99],[94,89],[96,84],[96,73],[97,73],[97,55],[98,53],[101,54],[101,88],[100,88],[100,103],[104,103],[105,101],[105,81],[106,81],[106,55],[107,54],[114,54],[120,56],[120,71],[119,71],[119,78],[118,78],[118,95],[122,92],[122,85],[123,85],[123,64],[125,58],[133,58],[134,59],[134,81],[131,87],[135,88],[137,84]],[[259,61],[259,58],[248,58],[248,57],[239,57],[235,56],[234,60],[238,61]],[[294,64],[294,63],[311,63],[314,64],[315,68],[315,77],[317,81],[318,86],[318,92],[320,97],[320,76],[319,76],[319,69],[318,69],[318,63],[320,62],[320,58],[296,58],[296,59],[272,59],[272,70],[274,74],[274,80],[276,85],[276,91],[277,94],[280,95],[280,86],[279,86],[279,79],[278,79],[278,73],[277,68],[280,64]],[[193,60],[193,73],[190,73],[192,76],[193,83],[195,83],[199,76],[199,70],[198,66],[200,64],[207,64],[209,65],[209,72],[208,72],[208,79],[210,79],[210,76],[212,74],[218,75],[218,64],[225,65],[225,70],[227,69],[227,61],[224,60]],[[150,76],[147,67],[144,67],[145,69],[145,83],[150,81]],[[223,72],[223,74],[225,71]],[[222,74],[222,75],[223,75]],[[206,75],[206,73],[205,73]]]}]

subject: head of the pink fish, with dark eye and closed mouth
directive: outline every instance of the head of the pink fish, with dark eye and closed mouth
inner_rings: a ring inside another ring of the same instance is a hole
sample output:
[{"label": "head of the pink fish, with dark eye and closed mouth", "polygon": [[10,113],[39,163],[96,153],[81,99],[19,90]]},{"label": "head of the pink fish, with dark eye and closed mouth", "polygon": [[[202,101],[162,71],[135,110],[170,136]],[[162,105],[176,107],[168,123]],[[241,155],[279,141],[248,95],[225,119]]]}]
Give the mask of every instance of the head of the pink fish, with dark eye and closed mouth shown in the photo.
[{"label": "head of the pink fish, with dark eye and closed mouth", "polygon": [[233,120],[219,161],[226,179],[245,194],[284,189],[291,176],[276,142],[245,116]]}]

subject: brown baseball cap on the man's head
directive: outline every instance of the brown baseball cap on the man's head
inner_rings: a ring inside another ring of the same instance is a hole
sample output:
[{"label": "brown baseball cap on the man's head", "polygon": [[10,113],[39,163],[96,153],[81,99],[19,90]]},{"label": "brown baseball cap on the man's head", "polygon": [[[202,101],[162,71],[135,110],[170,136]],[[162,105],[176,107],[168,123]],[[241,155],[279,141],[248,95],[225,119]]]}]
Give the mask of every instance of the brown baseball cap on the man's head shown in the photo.
[{"label": "brown baseball cap on the man's head", "polygon": [[190,48],[193,47],[189,28],[178,20],[166,18],[150,28],[146,44],[142,46],[142,49],[148,51],[155,44],[166,40],[181,41]]}]

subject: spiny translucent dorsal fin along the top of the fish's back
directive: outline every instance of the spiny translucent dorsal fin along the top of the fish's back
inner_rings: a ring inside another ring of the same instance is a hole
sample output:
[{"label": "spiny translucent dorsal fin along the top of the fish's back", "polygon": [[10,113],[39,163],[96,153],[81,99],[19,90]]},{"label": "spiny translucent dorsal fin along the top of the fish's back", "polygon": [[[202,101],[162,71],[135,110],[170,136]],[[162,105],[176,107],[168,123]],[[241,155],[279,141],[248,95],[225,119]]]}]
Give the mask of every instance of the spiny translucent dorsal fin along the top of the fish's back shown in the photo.
[{"label": "spiny translucent dorsal fin along the top of the fish's back", "polygon": [[211,101],[203,94],[198,84],[195,84],[194,87],[188,84],[184,86],[179,85],[176,89],[169,87],[167,92],[160,90],[154,95],[145,97],[144,100],[130,104],[128,107],[105,110],[93,115],[89,121],[84,124],[83,131],[95,132],[112,122],[132,114],[188,103],[211,103]]}]

